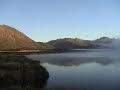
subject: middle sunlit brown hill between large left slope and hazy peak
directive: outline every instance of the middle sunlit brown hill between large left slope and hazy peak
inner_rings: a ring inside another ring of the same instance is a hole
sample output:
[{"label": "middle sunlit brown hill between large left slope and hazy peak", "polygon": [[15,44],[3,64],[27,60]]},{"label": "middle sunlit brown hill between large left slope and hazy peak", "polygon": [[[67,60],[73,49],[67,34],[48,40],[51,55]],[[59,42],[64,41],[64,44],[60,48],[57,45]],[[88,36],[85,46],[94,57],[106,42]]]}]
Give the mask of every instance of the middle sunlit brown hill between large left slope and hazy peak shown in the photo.
[{"label": "middle sunlit brown hill between large left slope and hazy peak", "polygon": [[82,40],[79,38],[63,38],[49,41],[48,43],[57,49],[79,49],[79,48],[92,48],[90,41]]}]

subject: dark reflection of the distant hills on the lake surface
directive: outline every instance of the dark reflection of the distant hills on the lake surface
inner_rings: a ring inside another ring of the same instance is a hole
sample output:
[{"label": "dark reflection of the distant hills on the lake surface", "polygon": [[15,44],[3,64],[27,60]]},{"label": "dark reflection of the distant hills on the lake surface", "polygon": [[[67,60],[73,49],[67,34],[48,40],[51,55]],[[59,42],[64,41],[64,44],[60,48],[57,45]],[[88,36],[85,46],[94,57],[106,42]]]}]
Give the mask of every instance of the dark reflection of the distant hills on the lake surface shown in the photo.
[{"label": "dark reflection of the distant hills on the lake surface", "polygon": [[48,63],[58,66],[79,66],[82,64],[97,63],[101,65],[112,64],[113,61],[109,58],[44,58],[41,63]]}]

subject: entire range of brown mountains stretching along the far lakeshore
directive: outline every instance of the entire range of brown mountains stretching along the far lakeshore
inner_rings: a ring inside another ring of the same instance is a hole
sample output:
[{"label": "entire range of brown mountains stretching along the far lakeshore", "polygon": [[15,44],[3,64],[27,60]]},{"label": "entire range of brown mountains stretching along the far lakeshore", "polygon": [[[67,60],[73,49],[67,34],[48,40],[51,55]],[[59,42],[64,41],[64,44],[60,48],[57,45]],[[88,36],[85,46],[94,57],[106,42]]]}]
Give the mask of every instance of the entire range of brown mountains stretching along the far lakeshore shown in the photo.
[{"label": "entire range of brown mountains stretching along the far lakeshore", "polygon": [[40,50],[40,49],[79,49],[103,48],[112,38],[101,37],[96,40],[63,38],[49,42],[35,42],[19,30],[8,25],[0,25],[0,51]]}]

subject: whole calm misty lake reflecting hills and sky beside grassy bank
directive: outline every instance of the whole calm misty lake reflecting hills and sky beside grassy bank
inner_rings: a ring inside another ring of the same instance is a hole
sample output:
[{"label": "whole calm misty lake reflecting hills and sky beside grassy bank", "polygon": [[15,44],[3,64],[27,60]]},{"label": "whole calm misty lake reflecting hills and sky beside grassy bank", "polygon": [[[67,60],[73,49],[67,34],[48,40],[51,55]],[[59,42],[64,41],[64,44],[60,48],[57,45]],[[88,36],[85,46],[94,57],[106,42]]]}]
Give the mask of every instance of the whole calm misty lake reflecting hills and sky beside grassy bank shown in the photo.
[{"label": "whole calm misty lake reflecting hills and sky beside grassy bank", "polygon": [[47,88],[120,89],[119,50],[73,50],[64,53],[33,54],[50,78]]}]

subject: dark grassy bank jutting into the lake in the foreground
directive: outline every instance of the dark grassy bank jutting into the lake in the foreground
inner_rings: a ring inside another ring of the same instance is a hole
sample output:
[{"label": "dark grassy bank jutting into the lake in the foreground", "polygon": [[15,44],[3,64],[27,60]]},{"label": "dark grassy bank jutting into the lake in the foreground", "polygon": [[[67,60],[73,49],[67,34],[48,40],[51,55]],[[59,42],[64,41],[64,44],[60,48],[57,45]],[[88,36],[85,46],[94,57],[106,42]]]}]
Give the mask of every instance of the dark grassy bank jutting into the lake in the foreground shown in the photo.
[{"label": "dark grassy bank jutting into the lake in the foreground", "polygon": [[39,61],[23,53],[0,53],[0,88],[43,88],[49,77]]}]

